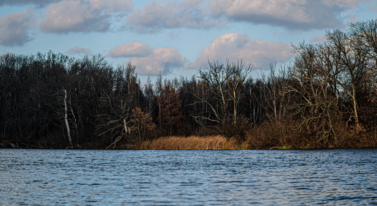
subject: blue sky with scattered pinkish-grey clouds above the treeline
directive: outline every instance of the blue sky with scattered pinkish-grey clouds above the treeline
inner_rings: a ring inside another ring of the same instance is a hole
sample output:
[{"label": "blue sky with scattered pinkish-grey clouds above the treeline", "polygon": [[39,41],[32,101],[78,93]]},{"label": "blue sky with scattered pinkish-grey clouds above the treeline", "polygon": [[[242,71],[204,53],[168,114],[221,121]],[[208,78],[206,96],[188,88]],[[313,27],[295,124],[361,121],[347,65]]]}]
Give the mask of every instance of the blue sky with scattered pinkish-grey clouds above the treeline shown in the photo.
[{"label": "blue sky with scattered pinkish-grey clouds above the treeline", "polygon": [[136,65],[141,81],[242,59],[256,77],[289,64],[292,45],[376,17],[371,0],[0,0],[0,54],[101,53]]}]

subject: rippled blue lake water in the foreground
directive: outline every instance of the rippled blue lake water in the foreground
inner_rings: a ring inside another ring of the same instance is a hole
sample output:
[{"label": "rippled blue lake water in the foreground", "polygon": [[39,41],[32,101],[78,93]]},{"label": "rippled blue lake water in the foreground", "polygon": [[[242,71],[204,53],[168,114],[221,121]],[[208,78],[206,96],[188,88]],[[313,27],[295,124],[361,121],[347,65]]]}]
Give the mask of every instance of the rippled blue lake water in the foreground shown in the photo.
[{"label": "rippled blue lake water in the foreground", "polygon": [[372,205],[377,149],[0,149],[0,205]]}]

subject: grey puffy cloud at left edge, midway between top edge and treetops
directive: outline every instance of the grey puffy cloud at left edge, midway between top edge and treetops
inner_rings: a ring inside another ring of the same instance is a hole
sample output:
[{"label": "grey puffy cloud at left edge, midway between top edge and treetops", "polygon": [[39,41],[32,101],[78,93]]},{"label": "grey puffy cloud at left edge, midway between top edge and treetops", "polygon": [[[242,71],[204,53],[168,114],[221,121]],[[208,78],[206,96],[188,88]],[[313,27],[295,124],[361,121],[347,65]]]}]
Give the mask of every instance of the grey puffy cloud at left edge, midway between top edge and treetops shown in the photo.
[{"label": "grey puffy cloud at left edge, midway between top edge and treetops", "polygon": [[0,17],[0,44],[23,46],[33,39],[31,29],[35,16],[31,9]]}]

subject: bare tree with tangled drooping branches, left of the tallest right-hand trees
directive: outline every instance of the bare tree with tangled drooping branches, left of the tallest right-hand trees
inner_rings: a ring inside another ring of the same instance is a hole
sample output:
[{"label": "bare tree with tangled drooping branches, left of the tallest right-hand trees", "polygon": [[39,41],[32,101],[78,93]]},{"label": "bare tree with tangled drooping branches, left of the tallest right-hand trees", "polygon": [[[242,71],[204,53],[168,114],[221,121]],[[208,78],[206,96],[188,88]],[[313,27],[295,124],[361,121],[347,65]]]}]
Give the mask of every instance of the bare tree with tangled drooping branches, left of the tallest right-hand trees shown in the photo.
[{"label": "bare tree with tangled drooping branches, left of the tallest right-hand trees", "polygon": [[313,124],[314,127],[319,127],[324,142],[328,141],[328,137],[335,136],[333,111],[338,102],[338,97],[331,96],[328,89],[333,72],[333,62],[329,62],[330,58],[327,56],[331,54],[329,49],[331,47],[326,45],[305,42],[294,46],[297,56],[293,74],[300,87],[288,86],[291,92],[297,93],[303,99],[294,106],[294,115],[303,119],[299,125],[300,130],[308,128],[310,131],[309,127]]}]

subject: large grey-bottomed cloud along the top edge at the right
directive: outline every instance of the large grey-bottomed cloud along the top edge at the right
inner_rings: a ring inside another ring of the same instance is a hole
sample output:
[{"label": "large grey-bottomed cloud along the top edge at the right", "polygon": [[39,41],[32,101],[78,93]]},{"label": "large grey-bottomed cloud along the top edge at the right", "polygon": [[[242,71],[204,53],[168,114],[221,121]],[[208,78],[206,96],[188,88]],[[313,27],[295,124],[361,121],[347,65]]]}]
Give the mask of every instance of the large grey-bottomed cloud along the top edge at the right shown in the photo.
[{"label": "large grey-bottomed cloud along the top edge at the right", "polygon": [[366,0],[211,0],[214,17],[290,29],[323,29],[343,24],[341,14]]}]

